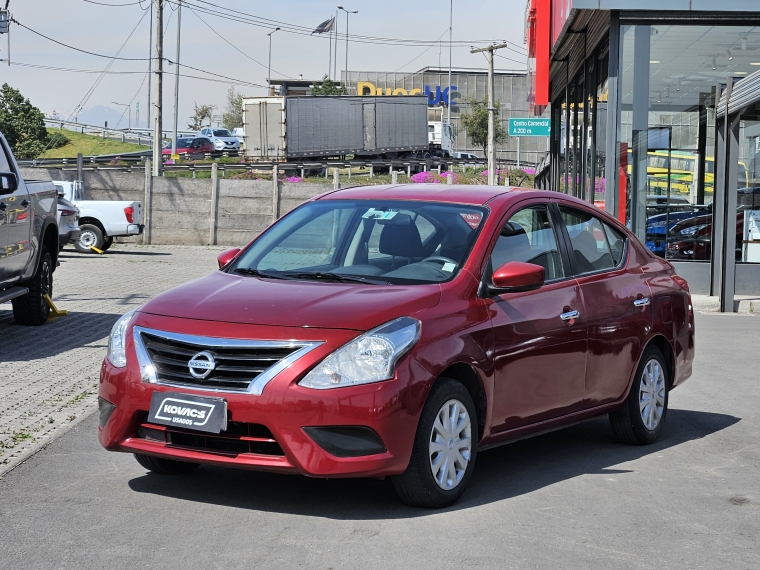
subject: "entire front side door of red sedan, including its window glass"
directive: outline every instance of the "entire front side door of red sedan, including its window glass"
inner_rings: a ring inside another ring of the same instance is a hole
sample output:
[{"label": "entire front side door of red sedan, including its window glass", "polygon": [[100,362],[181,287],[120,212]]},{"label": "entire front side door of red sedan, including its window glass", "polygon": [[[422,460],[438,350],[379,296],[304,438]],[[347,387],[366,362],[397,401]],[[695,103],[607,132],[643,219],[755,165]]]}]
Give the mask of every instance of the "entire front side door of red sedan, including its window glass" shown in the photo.
[{"label": "entire front side door of red sedan, including its window glass", "polygon": [[[487,300],[494,330],[495,432],[554,418],[582,403],[585,309],[558,243],[548,204],[530,203],[510,215],[491,252],[489,280],[494,270],[514,261],[540,265],[546,279],[538,290]],[[580,316],[561,318],[571,311]]]}]

